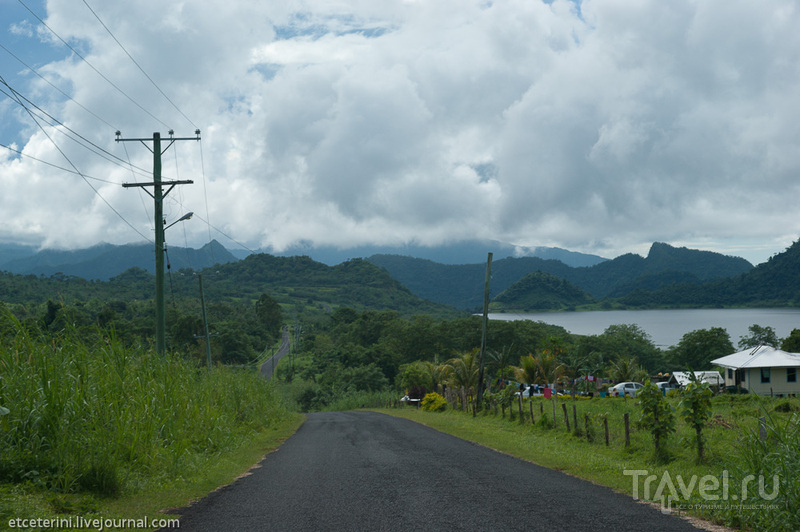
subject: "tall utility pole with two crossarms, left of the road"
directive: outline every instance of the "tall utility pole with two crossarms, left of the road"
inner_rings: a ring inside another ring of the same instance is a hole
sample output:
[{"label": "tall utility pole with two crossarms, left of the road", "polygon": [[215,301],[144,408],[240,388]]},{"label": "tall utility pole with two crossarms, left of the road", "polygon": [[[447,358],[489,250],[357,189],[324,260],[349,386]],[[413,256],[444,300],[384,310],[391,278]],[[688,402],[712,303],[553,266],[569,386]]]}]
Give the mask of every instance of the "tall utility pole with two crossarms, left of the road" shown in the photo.
[{"label": "tall utility pole with two crossarms, left of the road", "polygon": [[[145,148],[153,152],[153,182],[152,183],[123,183],[125,188],[141,187],[150,194],[155,202],[155,226],[156,226],[156,351],[163,355],[166,351],[166,307],[164,305],[164,198],[175,185],[190,185],[194,181],[161,181],[161,155],[167,151],[176,140],[200,140],[200,130],[195,130],[195,137],[175,138],[174,132],[169,130],[169,144],[161,149],[161,133],[153,133],[153,138],[133,138],[123,139],[121,133],[117,131],[116,142],[141,142]],[[152,149],[146,144],[152,142]],[[163,187],[169,186],[166,192]],[[153,187],[150,193],[146,187]]]}]

